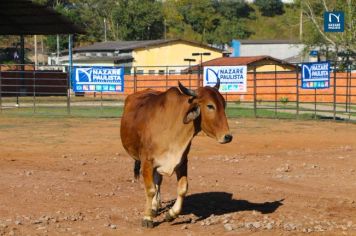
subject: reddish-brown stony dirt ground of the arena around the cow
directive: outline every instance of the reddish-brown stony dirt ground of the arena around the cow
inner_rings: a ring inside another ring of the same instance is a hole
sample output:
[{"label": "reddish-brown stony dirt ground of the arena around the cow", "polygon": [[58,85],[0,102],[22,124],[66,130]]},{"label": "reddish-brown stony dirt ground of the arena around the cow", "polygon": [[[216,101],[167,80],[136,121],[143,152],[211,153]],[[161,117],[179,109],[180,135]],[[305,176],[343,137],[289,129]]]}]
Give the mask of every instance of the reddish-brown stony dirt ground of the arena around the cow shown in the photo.
[{"label": "reddish-brown stony dirt ground of the arena around the cow", "polygon": [[230,144],[195,138],[183,213],[163,180],[141,228],[142,178],[119,119],[0,116],[0,235],[356,235],[356,125],[232,119]]}]

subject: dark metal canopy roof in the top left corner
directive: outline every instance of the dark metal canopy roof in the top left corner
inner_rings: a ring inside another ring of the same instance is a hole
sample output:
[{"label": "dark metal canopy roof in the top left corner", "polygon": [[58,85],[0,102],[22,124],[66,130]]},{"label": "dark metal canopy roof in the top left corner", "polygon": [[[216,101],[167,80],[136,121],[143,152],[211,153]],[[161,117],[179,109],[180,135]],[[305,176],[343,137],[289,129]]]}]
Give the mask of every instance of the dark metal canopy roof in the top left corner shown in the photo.
[{"label": "dark metal canopy roof in the top left corner", "polygon": [[53,9],[30,0],[0,0],[0,35],[85,33]]}]

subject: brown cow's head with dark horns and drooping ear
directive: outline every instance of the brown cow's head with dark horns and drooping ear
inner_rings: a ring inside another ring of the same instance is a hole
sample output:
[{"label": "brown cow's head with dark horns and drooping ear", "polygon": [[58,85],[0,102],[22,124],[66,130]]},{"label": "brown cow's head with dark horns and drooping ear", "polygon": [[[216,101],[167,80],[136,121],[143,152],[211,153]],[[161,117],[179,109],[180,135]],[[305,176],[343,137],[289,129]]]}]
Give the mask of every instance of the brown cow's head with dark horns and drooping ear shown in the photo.
[{"label": "brown cow's head with dark horns and drooping ear", "polygon": [[219,93],[220,80],[218,79],[214,87],[200,87],[195,91],[184,87],[180,82],[178,84],[185,95],[191,96],[183,122],[199,121],[199,129],[209,137],[217,139],[220,143],[229,143],[232,135],[225,114],[226,102]]}]

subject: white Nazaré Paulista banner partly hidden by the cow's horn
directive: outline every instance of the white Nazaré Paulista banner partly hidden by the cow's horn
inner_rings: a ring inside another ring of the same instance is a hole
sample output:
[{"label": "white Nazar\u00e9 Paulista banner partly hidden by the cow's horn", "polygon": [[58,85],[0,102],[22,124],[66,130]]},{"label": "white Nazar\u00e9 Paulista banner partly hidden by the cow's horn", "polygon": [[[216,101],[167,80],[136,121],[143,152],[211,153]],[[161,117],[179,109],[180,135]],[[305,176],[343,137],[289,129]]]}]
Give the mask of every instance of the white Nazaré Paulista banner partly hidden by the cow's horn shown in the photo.
[{"label": "white Nazar\u00e9 Paulista banner partly hidden by the cow's horn", "polygon": [[205,66],[204,86],[220,79],[220,92],[247,92],[247,66]]}]

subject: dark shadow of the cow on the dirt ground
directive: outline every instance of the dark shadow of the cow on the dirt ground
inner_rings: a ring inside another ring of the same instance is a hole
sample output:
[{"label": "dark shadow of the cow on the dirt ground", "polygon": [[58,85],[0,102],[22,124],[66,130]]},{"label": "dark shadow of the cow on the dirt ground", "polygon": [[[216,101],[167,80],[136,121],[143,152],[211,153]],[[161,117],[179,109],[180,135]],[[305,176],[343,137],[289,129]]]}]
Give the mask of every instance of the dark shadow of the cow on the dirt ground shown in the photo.
[{"label": "dark shadow of the cow on the dirt ground", "polygon": [[[258,211],[262,214],[269,214],[276,211],[283,205],[283,200],[272,202],[253,203],[247,200],[237,200],[232,198],[231,193],[226,192],[206,192],[188,195],[184,199],[181,215],[194,214],[198,221],[208,218],[210,215],[223,215],[239,211]],[[174,200],[167,202],[162,209],[168,210],[174,204]]]}]

